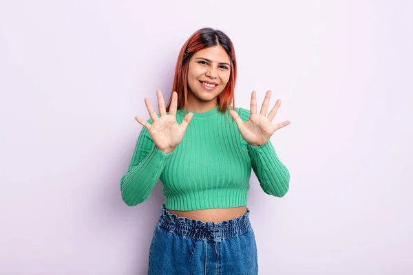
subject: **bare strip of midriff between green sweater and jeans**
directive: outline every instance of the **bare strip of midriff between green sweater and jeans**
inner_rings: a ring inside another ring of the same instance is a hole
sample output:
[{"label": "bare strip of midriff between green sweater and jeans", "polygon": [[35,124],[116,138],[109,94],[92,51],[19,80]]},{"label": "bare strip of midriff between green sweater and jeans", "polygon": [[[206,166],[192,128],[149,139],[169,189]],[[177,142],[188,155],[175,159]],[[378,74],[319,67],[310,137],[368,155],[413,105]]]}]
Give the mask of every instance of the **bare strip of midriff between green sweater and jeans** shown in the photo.
[{"label": "bare strip of midriff between green sweater and jeans", "polygon": [[200,209],[189,211],[169,210],[169,212],[176,214],[178,217],[186,217],[189,219],[198,219],[200,221],[213,221],[214,223],[220,223],[229,219],[235,219],[241,217],[246,213],[246,206],[234,207],[234,208],[212,208],[212,209]]}]

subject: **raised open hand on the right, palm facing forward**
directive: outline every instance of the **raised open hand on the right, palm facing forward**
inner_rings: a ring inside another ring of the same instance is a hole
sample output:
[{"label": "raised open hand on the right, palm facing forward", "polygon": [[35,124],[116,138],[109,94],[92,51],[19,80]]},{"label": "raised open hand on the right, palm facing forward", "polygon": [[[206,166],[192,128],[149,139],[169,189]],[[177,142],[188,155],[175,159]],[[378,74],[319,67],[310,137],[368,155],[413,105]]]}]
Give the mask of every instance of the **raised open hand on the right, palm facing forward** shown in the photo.
[{"label": "raised open hand on the right, palm facing forward", "polygon": [[271,91],[267,91],[264,102],[262,103],[261,111],[260,113],[257,113],[257,98],[255,91],[253,91],[251,94],[251,113],[250,117],[246,121],[242,121],[240,115],[238,115],[235,110],[229,111],[233,120],[237,123],[237,127],[242,135],[242,138],[244,138],[248,144],[253,146],[265,144],[275,131],[290,124],[289,120],[277,123],[275,125],[271,124],[277,114],[279,106],[281,105],[281,100],[277,100],[277,102],[275,102],[275,106],[266,117],[270,98]]}]

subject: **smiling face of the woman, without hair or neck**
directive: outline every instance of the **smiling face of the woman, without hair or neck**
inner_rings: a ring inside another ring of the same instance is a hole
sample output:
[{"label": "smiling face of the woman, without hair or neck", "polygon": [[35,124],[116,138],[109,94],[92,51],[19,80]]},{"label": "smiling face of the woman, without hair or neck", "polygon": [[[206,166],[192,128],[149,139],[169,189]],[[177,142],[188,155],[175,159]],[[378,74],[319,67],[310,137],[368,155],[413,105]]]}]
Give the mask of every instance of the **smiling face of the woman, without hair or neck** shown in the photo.
[{"label": "smiling face of the woman, without hair or neck", "polygon": [[189,61],[189,100],[215,100],[228,83],[230,64],[229,56],[221,45],[195,52]]}]

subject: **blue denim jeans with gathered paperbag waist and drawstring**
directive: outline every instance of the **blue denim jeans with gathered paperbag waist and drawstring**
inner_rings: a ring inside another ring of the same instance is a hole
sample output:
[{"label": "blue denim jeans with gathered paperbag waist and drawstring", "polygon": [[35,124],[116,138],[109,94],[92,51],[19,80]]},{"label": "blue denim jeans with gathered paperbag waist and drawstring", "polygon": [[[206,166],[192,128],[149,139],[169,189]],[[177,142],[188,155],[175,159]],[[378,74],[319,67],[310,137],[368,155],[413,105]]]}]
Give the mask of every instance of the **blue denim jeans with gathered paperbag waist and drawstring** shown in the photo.
[{"label": "blue denim jeans with gathered paperbag waist and drawstring", "polygon": [[149,248],[149,275],[258,274],[257,244],[248,215],[214,223],[171,214],[160,206]]}]

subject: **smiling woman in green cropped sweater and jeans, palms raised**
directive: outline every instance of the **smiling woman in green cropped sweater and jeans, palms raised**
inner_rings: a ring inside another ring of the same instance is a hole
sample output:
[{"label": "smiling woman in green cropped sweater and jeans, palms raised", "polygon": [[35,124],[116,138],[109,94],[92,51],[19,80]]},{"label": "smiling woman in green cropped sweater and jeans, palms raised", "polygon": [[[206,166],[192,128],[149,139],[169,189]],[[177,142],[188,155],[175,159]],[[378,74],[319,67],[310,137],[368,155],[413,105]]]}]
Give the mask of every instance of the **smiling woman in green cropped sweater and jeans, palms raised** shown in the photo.
[{"label": "smiling woman in green cropped sweater and jeans, palms raised", "polygon": [[255,91],[251,111],[235,108],[236,64],[226,34],[198,30],[180,51],[167,106],[157,91],[159,113],[145,98],[151,118],[135,118],[143,128],[120,180],[123,200],[142,203],[159,178],[165,195],[148,274],[258,272],[246,207],[251,168],[268,195],[286,194],[290,174],[270,137],[290,122],[271,123],[279,100],[266,115],[271,91],[260,113]]}]

